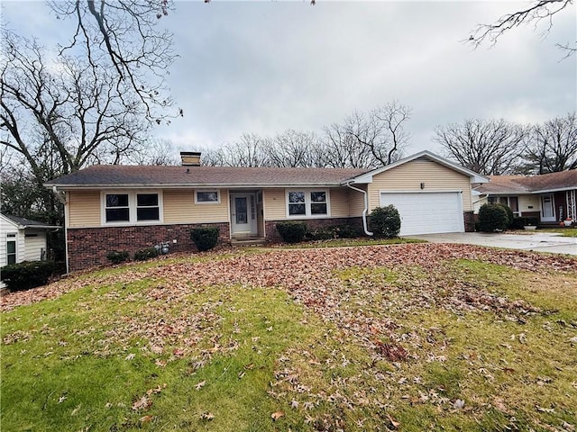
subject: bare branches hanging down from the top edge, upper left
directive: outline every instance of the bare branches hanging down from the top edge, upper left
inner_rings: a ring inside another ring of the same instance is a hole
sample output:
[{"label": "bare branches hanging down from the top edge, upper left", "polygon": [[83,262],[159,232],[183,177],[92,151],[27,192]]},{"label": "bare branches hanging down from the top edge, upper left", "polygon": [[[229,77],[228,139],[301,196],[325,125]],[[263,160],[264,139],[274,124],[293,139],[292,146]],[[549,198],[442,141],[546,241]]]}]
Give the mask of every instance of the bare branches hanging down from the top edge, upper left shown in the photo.
[{"label": "bare branches hanging down from the top edge, upper left", "polygon": [[167,118],[172,101],[164,79],[176,55],[172,34],[158,23],[172,9],[171,1],[50,0],[49,5],[58,19],[76,26],[60,54],[80,55],[90,67],[109,68],[124,94],[144,105],[149,121]]}]

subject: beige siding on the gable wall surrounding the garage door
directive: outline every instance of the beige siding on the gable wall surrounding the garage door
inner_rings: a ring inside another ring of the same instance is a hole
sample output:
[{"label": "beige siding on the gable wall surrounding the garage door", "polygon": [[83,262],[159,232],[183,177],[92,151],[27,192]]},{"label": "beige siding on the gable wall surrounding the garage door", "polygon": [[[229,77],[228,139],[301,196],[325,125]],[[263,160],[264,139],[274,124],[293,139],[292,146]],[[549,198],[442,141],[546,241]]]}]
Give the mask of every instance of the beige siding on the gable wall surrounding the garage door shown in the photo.
[{"label": "beige siding on the gable wall surrounding the garage door", "polygon": [[379,206],[380,191],[463,191],[463,211],[472,211],[469,177],[425,158],[396,166],[375,175],[369,184],[370,208]]}]

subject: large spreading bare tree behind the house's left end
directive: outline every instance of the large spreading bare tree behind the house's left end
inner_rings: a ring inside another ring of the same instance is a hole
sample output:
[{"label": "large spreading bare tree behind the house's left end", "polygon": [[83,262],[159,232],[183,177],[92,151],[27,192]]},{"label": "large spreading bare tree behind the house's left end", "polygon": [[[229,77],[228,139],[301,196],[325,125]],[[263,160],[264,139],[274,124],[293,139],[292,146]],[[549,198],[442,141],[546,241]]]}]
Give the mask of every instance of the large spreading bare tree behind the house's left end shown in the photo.
[{"label": "large spreading bare tree behind the house's left end", "polygon": [[41,151],[58,156],[58,174],[68,174],[118,163],[143,144],[146,110],[108,69],[63,56],[49,62],[36,41],[11,33],[2,41],[0,129],[7,133],[0,143],[21,153],[34,175]]}]

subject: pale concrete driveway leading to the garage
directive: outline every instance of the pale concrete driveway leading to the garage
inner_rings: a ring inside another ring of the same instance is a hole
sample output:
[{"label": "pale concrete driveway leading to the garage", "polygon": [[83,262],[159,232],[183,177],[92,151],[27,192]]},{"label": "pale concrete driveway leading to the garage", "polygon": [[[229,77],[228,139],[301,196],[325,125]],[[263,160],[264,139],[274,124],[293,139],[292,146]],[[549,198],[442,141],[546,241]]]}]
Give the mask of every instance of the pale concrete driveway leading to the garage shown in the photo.
[{"label": "pale concrete driveway leading to the garage", "polygon": [[487,234],[483,232],[449,232],[445,234],[423,234],[420,236],[403,236],[418,238],[431,243],[461,243],[490,247],[507,247],[510,249],[551,252],[554,254],[577,255],[577,238],[560,237],[554,233],[527,234]]}]

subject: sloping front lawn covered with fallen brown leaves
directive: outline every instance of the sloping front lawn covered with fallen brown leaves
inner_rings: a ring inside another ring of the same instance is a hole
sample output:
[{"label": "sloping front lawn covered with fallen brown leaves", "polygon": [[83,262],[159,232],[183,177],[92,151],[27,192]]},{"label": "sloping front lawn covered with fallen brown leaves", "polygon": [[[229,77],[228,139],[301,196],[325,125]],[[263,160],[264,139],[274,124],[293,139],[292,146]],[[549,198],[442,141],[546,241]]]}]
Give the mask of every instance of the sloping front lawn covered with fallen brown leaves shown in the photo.
[{"label": "sloping front lawn covered with fallen brown leaves", "polygon": [[243,251],[3,298],[2,430],[577,428],[577,259]]}]

